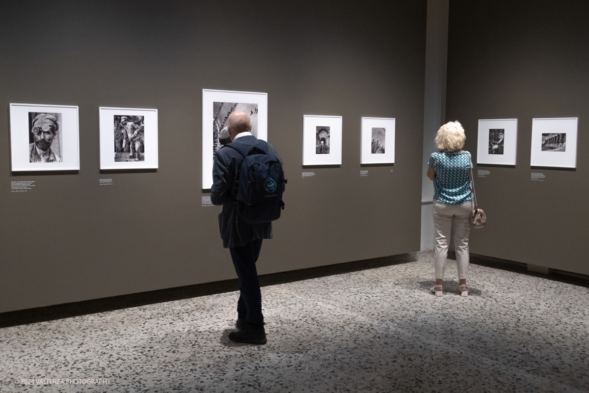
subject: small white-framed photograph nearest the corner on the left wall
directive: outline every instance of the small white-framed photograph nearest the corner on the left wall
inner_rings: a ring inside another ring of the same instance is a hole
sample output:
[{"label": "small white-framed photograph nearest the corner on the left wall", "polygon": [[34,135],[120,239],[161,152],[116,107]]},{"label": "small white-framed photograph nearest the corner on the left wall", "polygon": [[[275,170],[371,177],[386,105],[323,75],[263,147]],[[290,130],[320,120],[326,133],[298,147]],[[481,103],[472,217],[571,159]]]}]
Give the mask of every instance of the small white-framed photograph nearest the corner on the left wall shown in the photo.
[{"label": "small white-framed photograph nearest the corner on the left wall", "polygon": [[395,162],[395,119],[362,118],[360,164],[392,164]]}]

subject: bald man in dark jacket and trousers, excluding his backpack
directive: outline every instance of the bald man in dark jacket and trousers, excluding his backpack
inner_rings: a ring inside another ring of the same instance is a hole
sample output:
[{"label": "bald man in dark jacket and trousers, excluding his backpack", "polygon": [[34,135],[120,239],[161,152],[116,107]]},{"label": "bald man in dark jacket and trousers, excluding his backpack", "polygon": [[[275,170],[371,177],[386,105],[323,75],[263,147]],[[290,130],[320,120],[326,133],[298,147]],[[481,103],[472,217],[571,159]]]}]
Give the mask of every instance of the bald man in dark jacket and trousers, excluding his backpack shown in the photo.
[{"label": "bald man in dark jacket and trousers, excluding his backpack", "polygon": [[[239,278],[240,295],[237,301],[236,322],[238,331],[231,332],[229,339],[249,344],[266,344],[262,293],[256,261],[262,249],[262,240],[272,239],[272,222],[245,222],[237,213],[234,190],[236,183],[239,184],[237,179],[247,152],[252,154],[259,149],[269,154],[270,150],[266,142],[253,136],[249,112],[230,113],[227,118],[227,131],[232,143],[221,146],[214,154],[211,202],[223,205],[223,211],[219,214],[221,239],[223,247],[229,248]],[[243,152],[240,153],[238,147]]]}]

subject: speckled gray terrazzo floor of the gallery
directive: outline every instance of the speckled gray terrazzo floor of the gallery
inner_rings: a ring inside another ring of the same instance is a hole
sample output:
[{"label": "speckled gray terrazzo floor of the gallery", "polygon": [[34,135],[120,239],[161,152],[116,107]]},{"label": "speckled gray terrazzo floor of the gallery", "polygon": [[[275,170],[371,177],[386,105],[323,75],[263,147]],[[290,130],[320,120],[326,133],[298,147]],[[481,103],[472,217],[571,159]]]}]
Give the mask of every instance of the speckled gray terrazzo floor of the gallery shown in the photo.
[{"label": "speckled gray terrazzo floor of the gallery", "polygon": [[237,292],[0,329],[0,391],[589,391],[588,288],[471,265],[461,298],[450,260],[436,298],[432,270],[419,253],[264,287],[265,346],[227,338]]}]

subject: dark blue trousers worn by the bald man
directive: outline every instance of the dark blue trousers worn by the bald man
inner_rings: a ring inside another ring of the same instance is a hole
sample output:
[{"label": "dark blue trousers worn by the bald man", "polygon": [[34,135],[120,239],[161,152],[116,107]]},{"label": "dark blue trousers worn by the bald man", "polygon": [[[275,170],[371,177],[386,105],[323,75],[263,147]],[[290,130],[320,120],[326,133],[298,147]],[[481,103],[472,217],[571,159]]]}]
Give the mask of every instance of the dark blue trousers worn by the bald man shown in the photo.
[{"label": "dark blue trousers worn by the bald man", "polygon": [[254,327],[264,326],[262,292],[257,278],[256,261],[262,249],[262,239],[253,240],[239,247],[230,247],[233,266],[239,278],[237,316]]}]

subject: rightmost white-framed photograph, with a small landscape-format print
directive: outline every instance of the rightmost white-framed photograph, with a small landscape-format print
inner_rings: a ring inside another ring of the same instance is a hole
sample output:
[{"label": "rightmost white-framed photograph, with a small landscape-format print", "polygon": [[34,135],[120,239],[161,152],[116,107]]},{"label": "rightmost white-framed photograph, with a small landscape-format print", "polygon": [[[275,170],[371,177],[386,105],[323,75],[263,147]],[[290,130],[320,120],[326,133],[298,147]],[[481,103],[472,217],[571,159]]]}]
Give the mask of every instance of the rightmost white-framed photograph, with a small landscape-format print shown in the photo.
[{"label": "rightmost white-framed photograph, with a small landscape-format print", "polygon": [[577,117],[532,119],[532,167],[577,167]]}]

